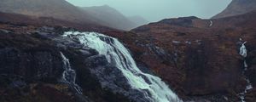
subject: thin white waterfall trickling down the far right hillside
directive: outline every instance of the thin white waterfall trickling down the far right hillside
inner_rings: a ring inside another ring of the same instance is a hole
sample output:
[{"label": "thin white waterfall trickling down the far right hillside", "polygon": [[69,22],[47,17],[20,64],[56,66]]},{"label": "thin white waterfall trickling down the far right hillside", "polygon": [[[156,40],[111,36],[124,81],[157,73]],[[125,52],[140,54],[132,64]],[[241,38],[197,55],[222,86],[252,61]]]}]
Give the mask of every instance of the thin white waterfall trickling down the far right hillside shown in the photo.
[{"label": "thin white waterfall trickling down the far right hillside", "polygon": [[242,93],[239,94],[239,97],[241,99],[241,102],[246,102],[245,101],[245,95],[247,94],[247,91],[250,90],[250,89],[253,89],[253,86],[252,86],[252,83],[250,82],[250,80],[247,78],[247,76],[245,75],[245,72],[247,71],[247,61],[246,61],[246,57],[247,57],[247,48],[245,46],[245,43],[246,42],[243,42],[241,44],[241,47],[240,47],[240,52],[239,54],[241,54],[241,56],[244,58],[244,61],[243,61],[243,67],[244,67],[244,70],[242,71],[242,75],[245,77],[245,81],[247,81],[247,86],[246,88],[244,89],[244,91]]}]

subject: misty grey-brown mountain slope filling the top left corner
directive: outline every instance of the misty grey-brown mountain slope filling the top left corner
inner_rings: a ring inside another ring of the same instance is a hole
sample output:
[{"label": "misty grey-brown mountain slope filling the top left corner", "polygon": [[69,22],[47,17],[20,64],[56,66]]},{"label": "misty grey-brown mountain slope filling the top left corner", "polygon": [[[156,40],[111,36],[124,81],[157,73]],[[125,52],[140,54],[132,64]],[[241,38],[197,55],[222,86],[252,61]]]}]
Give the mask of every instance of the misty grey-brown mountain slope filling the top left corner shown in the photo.
[{"label": "misty grey-brown mountain slope filling the top left corner", "polygon": [[0,0],[0,2],[0,10],[5,13],[99,24],[98,20],[65,0]]}]

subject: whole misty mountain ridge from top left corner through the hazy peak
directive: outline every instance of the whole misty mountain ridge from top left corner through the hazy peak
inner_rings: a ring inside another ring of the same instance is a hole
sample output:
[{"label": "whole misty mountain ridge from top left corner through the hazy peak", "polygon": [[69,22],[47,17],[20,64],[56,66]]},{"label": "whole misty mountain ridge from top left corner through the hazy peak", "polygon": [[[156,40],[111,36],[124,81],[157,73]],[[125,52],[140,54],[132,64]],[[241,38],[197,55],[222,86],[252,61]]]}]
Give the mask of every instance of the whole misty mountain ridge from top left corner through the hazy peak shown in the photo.
[{"label": "whole misty mountain ridge from top left corner through the hazy peak", "polygon": [[0,12],[52,17],[80,24],[108,26],[119,30],[137,27],[123,14],[107,5],[79,8],[66,0],[0,0]]}]

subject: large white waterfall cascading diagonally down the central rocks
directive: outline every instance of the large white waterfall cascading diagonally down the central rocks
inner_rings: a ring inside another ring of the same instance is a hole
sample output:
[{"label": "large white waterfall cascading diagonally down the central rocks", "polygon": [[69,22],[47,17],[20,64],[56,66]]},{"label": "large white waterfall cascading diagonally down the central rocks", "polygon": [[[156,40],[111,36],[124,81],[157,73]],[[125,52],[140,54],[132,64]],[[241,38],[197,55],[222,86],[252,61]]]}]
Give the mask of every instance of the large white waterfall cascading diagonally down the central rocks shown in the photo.
[{"label": "large white waterfall cascading diagonally down the central rocks", "polygon": [[144,92],[148,101],[152,102],[183,102],[172,92],[160,77],[140,71],[131,54],[124,45],[113,37],[96,32],[65,32],[64,37],[75,37],[86,47],[96,49],[103,54],[108,62],[122,71],[132,88]]}]

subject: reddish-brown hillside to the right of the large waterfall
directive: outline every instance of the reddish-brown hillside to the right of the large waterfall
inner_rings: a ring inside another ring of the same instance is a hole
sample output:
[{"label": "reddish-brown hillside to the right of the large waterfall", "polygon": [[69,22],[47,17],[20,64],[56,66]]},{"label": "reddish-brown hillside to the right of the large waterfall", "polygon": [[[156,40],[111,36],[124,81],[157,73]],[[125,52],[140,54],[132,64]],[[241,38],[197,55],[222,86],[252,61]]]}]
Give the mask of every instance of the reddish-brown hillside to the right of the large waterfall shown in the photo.
[{"label": "reddish-brown hillside to the right of the large waterfall", "polygon": [[[185,100],[240,101],[237,95],[249,84],[244,78],[256,86],[255,18],[256,12],[250,12],[217,20],[161,20],[132,30],[137,33],[133,43],[137,48],[131,50],[138,62],[148,65]],[[244,58],[239,54],[242,42],[247,42],[248,71],[243,71]],[[255,90],[247,91],[247,102],[255,100]]]}]

